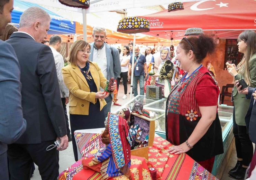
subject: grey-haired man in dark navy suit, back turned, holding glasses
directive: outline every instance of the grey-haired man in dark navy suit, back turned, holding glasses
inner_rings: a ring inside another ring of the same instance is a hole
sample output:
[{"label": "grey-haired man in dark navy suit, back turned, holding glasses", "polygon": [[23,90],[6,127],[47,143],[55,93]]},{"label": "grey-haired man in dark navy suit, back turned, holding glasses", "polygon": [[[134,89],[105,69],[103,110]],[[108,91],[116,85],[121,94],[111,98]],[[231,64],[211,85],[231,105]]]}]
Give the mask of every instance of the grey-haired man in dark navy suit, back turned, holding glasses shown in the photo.
[{"label": "grey-haired man in dark navy suit, back turned, holding glasses", "polygon": [[[42,180],[56,180],[59,152],[68,146],[66,122],[60,87],[51,48],[41,42],[47,38],[51,18],[38,7],[22,14],[19,31],[8,42],[15,50],[21,69],[22,108],[27,130],[8,145],[11,180],[30,179],[33,162]],[[58,148],[46,151],[60,138]]]}]

